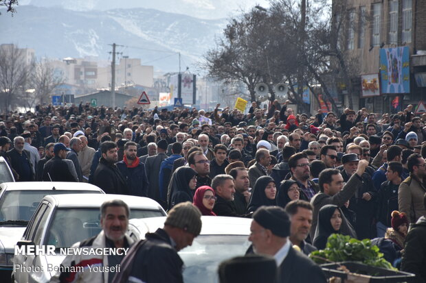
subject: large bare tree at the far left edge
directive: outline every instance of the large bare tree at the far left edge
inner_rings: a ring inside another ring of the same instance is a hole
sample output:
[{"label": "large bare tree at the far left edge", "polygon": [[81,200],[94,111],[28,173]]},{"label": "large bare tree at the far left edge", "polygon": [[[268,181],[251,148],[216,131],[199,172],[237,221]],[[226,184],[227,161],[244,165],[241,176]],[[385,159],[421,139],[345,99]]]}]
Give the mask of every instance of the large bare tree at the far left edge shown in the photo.
[{"label": "large bare tree at the far left edge", "polygon": [[30,74],[23,49],[14,45],[0,47],[0,95],[5,112],[25,93]]}]

